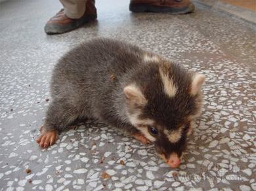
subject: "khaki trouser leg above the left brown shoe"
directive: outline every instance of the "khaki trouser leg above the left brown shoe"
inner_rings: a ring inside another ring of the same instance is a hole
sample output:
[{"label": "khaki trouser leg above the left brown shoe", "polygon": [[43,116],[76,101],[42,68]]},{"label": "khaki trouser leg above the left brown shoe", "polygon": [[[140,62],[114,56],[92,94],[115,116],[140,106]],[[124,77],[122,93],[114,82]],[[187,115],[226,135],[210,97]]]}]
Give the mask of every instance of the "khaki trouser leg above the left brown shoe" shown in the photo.
[{"label": "khaki trouser leg above the left brown shoe", "polygon": [[64,7],[64,12],[69,18],[81,18],[85,13],[85,3],[87,0],[60,0]]}]

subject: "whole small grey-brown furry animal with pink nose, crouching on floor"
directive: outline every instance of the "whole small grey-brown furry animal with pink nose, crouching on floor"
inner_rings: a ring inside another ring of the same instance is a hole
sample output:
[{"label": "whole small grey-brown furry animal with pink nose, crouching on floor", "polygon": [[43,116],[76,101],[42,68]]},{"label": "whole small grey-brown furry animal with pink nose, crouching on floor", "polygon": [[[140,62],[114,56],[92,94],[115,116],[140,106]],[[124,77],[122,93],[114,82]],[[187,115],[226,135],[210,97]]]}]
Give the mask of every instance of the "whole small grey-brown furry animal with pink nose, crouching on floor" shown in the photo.
[{"label": "whole small grey-brown furry animal with pink nose, crouching on floor", "polygon": [[51,97],[37,143],[49,147],[75,120],[95,118],[154,143],[179,167],[187,137],[202,107],[202,74],[158,54],[112,39],[94,39],[55,65]]}]

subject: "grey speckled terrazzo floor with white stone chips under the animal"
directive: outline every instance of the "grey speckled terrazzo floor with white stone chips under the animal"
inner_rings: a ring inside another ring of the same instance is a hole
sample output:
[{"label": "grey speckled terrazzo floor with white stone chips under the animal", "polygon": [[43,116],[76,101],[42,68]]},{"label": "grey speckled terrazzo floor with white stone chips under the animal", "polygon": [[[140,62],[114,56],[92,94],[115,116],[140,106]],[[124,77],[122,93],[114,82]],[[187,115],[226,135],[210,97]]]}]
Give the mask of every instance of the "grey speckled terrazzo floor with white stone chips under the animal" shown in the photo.
[{"label": "grey speckled terrazzo floor with white stone chips under the animal", "polygon": [[[203,7],[173,16],[132,14],[128,4],[98,1],[98,22],[56,36],[43,26],[58,1],[0,5],[0,190],[256,190],[254,26]],[[54,63],[102,36],[205,73],[203,114],[179,169],[167,167],[152,146],[94,121],[62,133],[47,150],[37,147]]]}]

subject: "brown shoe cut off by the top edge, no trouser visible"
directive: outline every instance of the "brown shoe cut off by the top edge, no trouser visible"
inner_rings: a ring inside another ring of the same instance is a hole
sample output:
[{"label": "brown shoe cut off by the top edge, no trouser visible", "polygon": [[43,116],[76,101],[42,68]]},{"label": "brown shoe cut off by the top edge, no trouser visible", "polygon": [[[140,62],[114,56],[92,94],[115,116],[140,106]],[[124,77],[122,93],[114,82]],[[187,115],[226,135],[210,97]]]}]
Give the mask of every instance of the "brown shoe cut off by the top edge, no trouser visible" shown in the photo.
[{"label": "brown shoe cut off by the top edge, no trouser visible", "polygon": [[171,12],[185,14],[193,12],[194,4],[189,0],[131,0],[132,12]]}]

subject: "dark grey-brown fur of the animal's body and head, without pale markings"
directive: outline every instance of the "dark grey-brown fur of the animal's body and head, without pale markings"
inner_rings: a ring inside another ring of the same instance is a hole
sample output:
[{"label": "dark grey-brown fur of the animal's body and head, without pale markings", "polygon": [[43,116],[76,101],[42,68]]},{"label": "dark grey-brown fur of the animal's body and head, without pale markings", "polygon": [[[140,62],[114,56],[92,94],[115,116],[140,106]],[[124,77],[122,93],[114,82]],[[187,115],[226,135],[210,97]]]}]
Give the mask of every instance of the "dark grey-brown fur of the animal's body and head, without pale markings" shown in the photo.
[{"label": "dark grey-brown fur of the animal's body and head, without pale markings", "polygon": [[[199,112],[200,94],[190,95],[193,73],[181,65],[154,56],[137,46],[111,39],[95,39],[74,48],[56,64],[51,80],[53,101],[47,111],[45,130],[62,131],[77,118],[95,118],[129,133],[136,133],[127,111],[139,110],[139,118],[150,118],[160,131],[156,149],[168,158],[173,150],[179,153],[186,143],[186,128],[178,143],[169,143],[163,130],[177,130],[190,125],[188,117]],[[168,97],[163,92],[159,68],[177,87],[177,94]],[[125,86],[136,84],[148,101],[146,105],[129,105],[123,93]],[[135,108],[137,107],[137,108]]]}]

